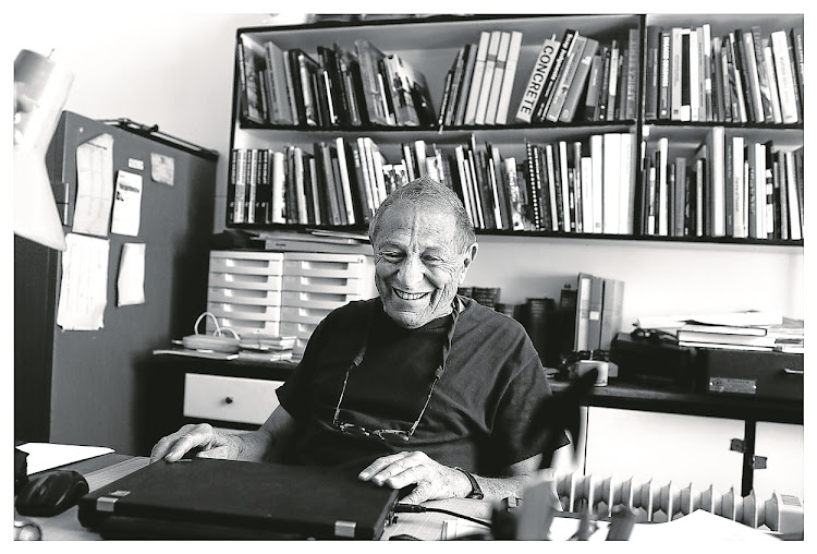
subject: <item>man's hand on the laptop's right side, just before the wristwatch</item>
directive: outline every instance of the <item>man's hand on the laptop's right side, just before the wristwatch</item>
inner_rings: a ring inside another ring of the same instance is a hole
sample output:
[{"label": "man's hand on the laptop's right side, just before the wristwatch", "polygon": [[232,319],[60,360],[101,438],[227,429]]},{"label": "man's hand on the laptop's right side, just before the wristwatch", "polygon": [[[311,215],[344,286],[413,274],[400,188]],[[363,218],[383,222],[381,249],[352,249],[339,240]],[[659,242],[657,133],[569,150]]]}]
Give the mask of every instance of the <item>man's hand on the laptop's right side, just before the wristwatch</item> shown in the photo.
[{"label": "man's hand on the laptop's right side, just before the wristwatch", "polygon": [[376,485],[402,489],[417,486],[401,502],[419,504],[436,498],[464,497],[471,482],[461,471],[437,463],[422,451],[399,453],[376,459],[357,475]]}]

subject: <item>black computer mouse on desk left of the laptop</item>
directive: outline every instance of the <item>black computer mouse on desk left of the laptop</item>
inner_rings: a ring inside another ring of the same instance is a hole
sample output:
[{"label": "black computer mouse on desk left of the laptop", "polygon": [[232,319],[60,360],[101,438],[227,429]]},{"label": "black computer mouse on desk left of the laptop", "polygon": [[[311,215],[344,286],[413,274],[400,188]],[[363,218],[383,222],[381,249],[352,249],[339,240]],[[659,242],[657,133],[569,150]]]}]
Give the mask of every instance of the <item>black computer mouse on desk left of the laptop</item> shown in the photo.
[{"label": "black computer mouse on desk left of the laptop", "polygon": [[62,514],[88,494],[88,482],[76,471],[59,469],[28,478],[14,505],[24,516]]}]

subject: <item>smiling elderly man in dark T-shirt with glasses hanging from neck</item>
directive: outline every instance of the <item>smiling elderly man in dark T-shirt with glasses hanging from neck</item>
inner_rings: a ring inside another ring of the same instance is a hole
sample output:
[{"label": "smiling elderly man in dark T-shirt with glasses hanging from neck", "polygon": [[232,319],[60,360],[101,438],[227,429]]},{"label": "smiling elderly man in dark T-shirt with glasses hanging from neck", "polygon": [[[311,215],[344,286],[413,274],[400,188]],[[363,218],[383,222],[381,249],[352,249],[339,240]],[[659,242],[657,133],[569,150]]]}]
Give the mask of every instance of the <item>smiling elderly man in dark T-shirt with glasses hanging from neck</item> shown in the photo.
[{"label": "smiling elderly man in dark T-shirt with glasses hanging from neck", "polygon": [[239,435],[185,425],[151,461],[198,448],[352,467],[378,485],[415,485],[408,503],[521,496],[547,433],[532,413],[550,388],[524,328],[456,294],[477,254],[462,203],[430,179],[413,181],[383,201],[369,238],[379,298],[318,325],[264,425]]}]

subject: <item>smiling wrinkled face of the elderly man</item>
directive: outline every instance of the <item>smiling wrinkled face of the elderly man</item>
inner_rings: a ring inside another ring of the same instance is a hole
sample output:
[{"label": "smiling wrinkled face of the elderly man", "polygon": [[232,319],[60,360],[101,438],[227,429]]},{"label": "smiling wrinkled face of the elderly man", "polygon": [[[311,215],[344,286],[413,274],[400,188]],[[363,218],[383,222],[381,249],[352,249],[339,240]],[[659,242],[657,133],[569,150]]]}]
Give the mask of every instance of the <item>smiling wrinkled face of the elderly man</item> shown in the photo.
[{"label": "smiling wrinkled face of the elderly man", "polygon": [[460,252],[452,215],[393,206],[374,241],[377,290],[398,325],[417,328],[450,313],[477,251],[475,243]]}]

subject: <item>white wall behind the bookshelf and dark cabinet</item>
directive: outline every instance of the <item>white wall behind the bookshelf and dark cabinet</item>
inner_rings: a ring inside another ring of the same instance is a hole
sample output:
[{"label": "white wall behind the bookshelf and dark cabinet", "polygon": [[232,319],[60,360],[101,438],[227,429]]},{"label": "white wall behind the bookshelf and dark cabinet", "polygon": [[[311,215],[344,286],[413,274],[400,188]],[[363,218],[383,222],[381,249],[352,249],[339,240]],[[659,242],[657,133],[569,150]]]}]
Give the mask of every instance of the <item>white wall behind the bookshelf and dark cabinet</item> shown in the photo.
[{"label": "white wall behind the bookshelf and dark cabinet", "polygon": [[[272,8],[270,8],[272,9]],[[286,16],[288,21],[294,16]],[[9,31],[20,48],[56,56],[75,73],[66,109],[126,117],[220,153],[216,229],[223,228],[235,29],[269,14],[157,11],[29,15]],[[559,298],[578,272],[626,282],[624,322],[641,314],[734,309],[804,317],[803,249],[480,237],[466,285],[501,287],[501,300]]]}]

